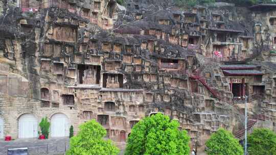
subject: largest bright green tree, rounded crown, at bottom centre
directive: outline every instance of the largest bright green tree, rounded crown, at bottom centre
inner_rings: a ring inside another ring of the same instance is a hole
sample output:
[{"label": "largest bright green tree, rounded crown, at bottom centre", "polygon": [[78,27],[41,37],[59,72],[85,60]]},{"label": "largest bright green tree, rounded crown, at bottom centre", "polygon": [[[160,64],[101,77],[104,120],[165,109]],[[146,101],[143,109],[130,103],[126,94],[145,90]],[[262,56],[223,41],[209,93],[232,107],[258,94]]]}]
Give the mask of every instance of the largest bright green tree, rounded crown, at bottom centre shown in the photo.
[{"label": "largest bright green tree, rounded crown, at bottom centre", "polygon": [[125,155],[189,154],[190,138],[178,126],[177,121],[159,113],[140,120],[131,130]]}]

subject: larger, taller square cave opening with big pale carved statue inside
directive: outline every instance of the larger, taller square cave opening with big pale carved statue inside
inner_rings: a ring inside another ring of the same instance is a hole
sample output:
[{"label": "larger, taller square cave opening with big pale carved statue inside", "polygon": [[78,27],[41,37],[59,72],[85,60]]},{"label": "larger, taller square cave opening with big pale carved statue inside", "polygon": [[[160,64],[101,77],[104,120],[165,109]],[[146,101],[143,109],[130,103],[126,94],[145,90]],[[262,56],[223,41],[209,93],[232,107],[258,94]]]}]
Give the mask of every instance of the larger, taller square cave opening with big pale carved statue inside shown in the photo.
[{"label": "larger, taller square cave opening with big pale carved statue inside", "polygon": [[99,65],[78,65],[79,84],[98,85],[101,77],[101,66]]}]

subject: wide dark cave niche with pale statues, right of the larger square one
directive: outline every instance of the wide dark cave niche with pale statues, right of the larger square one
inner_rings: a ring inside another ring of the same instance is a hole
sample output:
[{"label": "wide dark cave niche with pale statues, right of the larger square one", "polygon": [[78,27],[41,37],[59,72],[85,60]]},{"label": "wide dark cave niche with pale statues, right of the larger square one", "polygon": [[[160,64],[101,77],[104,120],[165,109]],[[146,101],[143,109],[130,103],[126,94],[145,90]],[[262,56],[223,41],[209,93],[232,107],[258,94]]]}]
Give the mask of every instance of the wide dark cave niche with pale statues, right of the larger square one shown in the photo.
[{"label": "wide dark cave niche with pale statues, right of the larger square one", "polygon": [[123,74],[104,73],[104,88],[123,88]]}]

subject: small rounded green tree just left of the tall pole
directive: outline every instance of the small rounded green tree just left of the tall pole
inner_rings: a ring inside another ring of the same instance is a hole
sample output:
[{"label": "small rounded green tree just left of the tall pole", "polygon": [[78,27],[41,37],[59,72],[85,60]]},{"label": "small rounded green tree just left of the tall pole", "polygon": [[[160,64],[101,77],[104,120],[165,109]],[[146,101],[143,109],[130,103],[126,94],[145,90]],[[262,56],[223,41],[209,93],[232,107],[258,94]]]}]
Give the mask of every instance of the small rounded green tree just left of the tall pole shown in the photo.
[{"label": "small rounded green tree just left of the tall pole", "polygon": [[219,128],[205,145],[208,147],[206,150],[208,155],[243,155],[243,147],[239,141],[223,128]]}]

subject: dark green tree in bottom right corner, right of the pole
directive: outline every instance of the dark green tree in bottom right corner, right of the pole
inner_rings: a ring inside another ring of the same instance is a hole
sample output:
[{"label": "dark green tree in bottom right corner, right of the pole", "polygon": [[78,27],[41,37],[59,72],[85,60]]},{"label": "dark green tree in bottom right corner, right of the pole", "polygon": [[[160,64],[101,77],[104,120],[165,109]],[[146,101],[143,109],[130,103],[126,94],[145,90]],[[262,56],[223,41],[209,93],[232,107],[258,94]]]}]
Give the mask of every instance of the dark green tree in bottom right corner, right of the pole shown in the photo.
[{"label": "dark green tree in bottom right corner, right of the pole", "polygon": [[250,155],[276,155],[276,134],[268,128],[255,129],[248,136]]}]

